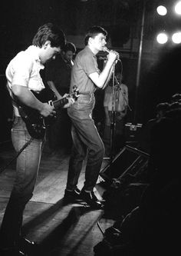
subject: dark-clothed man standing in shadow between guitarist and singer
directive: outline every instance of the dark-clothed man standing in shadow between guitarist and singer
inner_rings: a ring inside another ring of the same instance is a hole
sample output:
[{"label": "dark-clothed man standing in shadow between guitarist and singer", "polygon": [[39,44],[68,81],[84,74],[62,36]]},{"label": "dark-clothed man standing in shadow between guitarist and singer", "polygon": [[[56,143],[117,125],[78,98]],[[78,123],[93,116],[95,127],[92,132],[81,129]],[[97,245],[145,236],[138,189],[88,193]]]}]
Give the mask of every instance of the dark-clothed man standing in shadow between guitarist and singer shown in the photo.
[{"label": "dark-clothed man standing in shadow between guitarist and singer", "polygon": [[[58,58],[52,62],[48,62],[44,68],[45,80],[57,98],[64,93],[69,93],[75,53],[75,45],[72,42],[67,42],[61,50],[61,55],[58,55]],[[48,129],[48,145],[51,151],[64,149],[65,153],[70,153],[72,146],[71,119],[67,115],[67,108],[61,108],[58,111],[56,120]]]}]

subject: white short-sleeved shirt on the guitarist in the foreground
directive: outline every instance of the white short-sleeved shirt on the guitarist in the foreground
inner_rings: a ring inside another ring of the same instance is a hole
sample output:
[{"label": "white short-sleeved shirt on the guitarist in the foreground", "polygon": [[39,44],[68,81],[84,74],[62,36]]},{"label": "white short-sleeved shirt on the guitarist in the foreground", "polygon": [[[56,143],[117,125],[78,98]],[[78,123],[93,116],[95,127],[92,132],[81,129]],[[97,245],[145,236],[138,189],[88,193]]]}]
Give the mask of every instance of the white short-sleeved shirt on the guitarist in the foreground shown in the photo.
[{"label": "white short-sleeved shirt on the guitarist in the foreground", "polygon": [[[44,68],[38,57],[38,47],[29,46],[25,51],[19,52],[6,68],[5,75],[7,78],[7,87],[10,95],[12,95],[12,85],[21,85],[29,88],[29,90],[39,92],[44,88],[41,79],[40,70]],[[18,108],[13,101],[15,116],[20,116]]]}]

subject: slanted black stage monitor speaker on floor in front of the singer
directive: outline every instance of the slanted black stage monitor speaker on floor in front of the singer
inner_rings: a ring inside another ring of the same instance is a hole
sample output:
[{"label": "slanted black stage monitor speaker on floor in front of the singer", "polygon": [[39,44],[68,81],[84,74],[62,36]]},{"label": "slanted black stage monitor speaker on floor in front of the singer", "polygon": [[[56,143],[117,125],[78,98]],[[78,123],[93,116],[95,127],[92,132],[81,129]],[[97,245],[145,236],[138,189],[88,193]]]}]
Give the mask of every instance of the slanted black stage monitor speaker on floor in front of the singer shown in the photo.
[{"label": "slanted black stage monitor speaker on floor in front of the singer", "polygon": [[100,177],[104,181],[111,181],[114,178],[123,178],[128,173],[137,175],[147,165],[148,158],[149,154],[127,145],[100,172]]}]

